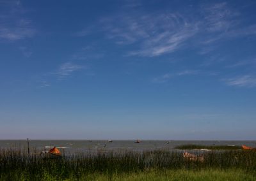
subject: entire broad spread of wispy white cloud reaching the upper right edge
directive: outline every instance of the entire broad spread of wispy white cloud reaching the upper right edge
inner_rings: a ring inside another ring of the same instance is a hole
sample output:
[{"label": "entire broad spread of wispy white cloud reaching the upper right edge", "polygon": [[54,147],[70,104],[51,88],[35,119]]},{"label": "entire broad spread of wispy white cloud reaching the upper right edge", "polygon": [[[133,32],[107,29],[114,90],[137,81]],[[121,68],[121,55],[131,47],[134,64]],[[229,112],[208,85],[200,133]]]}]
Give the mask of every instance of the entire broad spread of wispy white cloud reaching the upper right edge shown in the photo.
[{"label": "entire broad spread of wispy white cloud reaching the upper right edge", "polygon": [[[206,55],[214,52],[220,41],[256,34],[256,25],[244,25],[243,14],[228,3],[204,3],[198,7],[188,13],[143,13],[136,8],[129,9],[129,14],[118,11],[101,18],[93,29],[104,32],[116,45],[127,46],[125,55],[140,57],[156,57],[191,47]],[[84,29],[78,34],[87,33]]]}]

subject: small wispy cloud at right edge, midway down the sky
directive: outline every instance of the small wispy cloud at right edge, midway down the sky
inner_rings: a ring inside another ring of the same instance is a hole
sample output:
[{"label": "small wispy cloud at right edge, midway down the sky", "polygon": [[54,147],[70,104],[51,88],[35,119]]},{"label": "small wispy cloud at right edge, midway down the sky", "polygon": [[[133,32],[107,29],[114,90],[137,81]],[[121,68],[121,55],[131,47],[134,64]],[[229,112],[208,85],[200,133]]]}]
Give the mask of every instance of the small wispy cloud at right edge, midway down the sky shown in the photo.
[{"label": "small wispy cloud at right edge, midway down the sky", "polygon": [[256,76],[243,75],[236,76],[234,78],[227,78],[224,80],[227,85],[237,86],[237,87],[255,87],[256,86]]}]

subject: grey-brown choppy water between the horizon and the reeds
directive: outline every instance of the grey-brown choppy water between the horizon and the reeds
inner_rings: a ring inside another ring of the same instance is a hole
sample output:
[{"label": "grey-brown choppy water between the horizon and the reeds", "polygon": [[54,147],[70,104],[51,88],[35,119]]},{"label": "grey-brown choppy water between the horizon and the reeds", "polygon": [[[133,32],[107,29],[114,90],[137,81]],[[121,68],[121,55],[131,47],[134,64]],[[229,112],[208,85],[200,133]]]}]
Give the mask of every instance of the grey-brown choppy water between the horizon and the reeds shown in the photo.
[{"label": "grey-brown choppy water between the horizon and the reeds", "polygon": [[[94,152],[97,150],[172,150],[177,145],[198,144],[198,145],[248,145],[256,147],[255,141],[170,141],[170,140],[142,140],[141,143],[134,143],[135,140],[29,140],[30,149],[49,150],[52,146],[61,147],[65,152]],[[167,144],[166,142],[169,141]],[[0,140],[0,148],[27,148],[26,140]]]}]

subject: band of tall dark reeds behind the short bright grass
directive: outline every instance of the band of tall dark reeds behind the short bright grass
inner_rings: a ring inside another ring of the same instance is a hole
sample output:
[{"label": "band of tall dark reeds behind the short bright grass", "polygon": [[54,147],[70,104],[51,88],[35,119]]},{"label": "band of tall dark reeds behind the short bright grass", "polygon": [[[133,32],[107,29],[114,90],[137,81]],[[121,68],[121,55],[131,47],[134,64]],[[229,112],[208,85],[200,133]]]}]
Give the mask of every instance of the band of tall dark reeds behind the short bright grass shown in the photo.
[{"label": "band of tall dark reeds behind the short bright grass", "polygon": [[[202,154],[199,153],[198,154]],[[240,169],[255,174],[256,152],[243,150],[213,151],[204,153],[204,161],[189,161],[182,152],[104,152],[63,154],[61,157],[45,157],[34,150],[0,150],[0,179],[40,180],[41,178],[69,177],[99,173],[112,175],[136,173],[147,170],[202,170]],[[16,176],[15,176],[16,175]]]}]

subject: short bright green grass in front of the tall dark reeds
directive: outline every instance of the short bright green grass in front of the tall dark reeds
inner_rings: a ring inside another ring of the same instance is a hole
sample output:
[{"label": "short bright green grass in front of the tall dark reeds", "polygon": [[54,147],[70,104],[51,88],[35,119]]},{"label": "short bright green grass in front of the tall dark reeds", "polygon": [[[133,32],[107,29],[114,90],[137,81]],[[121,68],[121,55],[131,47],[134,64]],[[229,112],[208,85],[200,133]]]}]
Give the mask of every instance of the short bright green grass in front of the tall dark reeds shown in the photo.
[{"label": "short bright green grass in front of the tall dark reeds", "polygon": [[[17,172],[12,172],[12,180],[27,180],[27,175],[20,175]],[[113,175],[101,173],[81,173],[79,177],[76,174],[68,175],[63,180],[255,180],[256,175],[247,173],[244,170],[147,170],[132,173],[114,173]],[[2,175],[0,180],[10,180],[9,175]],[[61,180],[59,177],[45,172],[38,180]]]}]

